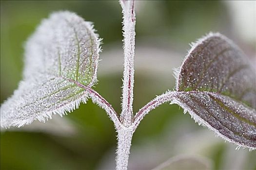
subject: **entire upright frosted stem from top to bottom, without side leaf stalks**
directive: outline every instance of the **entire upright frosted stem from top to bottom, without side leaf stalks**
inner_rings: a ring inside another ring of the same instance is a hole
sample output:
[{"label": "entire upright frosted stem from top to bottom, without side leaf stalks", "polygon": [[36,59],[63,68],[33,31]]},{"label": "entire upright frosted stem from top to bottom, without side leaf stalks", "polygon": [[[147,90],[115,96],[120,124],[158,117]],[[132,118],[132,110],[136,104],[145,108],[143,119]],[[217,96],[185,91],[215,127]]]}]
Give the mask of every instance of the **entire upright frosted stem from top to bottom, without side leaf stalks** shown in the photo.
[{"label": "entire upright frosted stem from top to bottom, without side leaf stalks", "polygon": [[122,86],[122,112],[120,122],[122,126],[117,129],[117,170],[127,170],[132,136],[133,123],[133,85],[134,85],[134,50],[135,50],[135,12],[134,0],[120,0],[123,14],[123,51],[124,70]]}]

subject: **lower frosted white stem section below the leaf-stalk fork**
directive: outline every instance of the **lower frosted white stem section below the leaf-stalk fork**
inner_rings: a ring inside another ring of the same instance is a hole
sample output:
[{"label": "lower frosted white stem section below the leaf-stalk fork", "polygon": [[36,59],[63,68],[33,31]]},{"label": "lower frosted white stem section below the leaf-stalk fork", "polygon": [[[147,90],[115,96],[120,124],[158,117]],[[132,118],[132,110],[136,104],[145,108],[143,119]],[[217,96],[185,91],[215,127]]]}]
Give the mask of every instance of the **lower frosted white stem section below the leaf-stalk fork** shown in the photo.
[{"label": "lower frosted white stem section below the leaf-stalk fork", "polygon": [[122,126],[118,130],[118,149],[117,149],[117,167],[116,170],[127,170],[130,147],[132,143],[134,130]]}]

